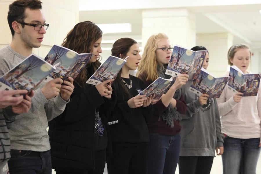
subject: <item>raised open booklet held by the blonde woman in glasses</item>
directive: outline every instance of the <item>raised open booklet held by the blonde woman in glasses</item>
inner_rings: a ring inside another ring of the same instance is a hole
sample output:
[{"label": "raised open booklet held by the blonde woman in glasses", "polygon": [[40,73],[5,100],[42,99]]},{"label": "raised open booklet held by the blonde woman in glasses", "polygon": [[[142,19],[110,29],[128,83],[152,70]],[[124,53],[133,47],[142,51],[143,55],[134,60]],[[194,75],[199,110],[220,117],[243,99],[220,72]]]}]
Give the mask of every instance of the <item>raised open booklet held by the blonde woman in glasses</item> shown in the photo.
[{"label": "raised open booklet held by the blonde woman in glasses", "polygon": [[193,79],[193,76],[198,75],[200,72],[206,52],[174,46],[165,74],[171,76],[188,74],[189,79]]}]

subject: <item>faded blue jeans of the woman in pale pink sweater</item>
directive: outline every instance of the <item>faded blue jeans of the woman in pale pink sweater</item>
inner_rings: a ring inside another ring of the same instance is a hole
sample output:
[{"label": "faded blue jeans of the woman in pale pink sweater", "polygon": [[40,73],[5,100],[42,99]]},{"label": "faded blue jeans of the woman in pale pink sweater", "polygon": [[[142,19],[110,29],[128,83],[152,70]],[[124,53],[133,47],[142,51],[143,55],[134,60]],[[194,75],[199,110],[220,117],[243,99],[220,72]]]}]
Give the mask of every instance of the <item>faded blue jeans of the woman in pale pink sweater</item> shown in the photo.
[{"label": "faded blue jeans of the woman in pale pink sweater", "polygon": [[255,174],[260,153],[260,138],[226,136],[222,155],[223,174]]}]

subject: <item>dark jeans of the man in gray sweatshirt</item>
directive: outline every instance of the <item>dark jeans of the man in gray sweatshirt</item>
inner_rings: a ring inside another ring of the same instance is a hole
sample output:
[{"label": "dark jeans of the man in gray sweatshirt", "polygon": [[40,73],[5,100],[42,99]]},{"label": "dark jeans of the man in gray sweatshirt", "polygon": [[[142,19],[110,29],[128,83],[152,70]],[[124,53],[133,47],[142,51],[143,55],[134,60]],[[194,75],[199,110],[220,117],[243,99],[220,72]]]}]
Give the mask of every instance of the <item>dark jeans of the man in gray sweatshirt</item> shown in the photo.
[{"label": "dark jeans of the man in gray sweatshirt", "polygon": [[10,174],[51,174],[51,153],[11,150]]}]

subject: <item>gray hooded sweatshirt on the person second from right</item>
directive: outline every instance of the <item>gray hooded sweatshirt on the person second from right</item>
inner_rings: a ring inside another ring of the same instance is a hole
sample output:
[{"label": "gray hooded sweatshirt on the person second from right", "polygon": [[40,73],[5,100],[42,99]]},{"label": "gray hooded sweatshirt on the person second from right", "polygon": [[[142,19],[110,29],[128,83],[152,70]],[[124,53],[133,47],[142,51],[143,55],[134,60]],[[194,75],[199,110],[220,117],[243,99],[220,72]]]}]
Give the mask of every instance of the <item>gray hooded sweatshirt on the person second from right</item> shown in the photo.
[{"label": "gray hooded sweatshirt on the person second from right", "polygon": [[223,147],[220,116],[216,99],[209,99],[201,106],[198,96],[189,91],[189,80],[182,86],[187,103],[186,115],[182,117],[180,156],[213,156],[215,149]]}]

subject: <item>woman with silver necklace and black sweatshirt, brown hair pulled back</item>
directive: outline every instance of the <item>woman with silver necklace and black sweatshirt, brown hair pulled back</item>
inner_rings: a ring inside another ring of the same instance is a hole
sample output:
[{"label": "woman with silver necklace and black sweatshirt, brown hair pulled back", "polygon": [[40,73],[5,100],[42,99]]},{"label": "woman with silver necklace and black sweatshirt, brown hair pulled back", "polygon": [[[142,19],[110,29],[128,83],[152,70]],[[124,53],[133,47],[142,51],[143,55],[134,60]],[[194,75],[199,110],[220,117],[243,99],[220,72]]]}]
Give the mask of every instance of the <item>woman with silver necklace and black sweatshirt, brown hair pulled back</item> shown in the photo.
[{"label": "woman with silver necklace and black sweatshirt, brown hair pulled back", "polygon": [[146,174],[149,142],[146,123],[152,114],[154,95],[138,95],[146,86],[130,75],[141,59],[137,42],[131,38],[118,39],[111,52],[113,56],[128,58],[113,82],[112,96],[117,102],[108,117],[113,152],[107,160],[108,174]]}]

